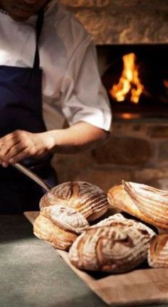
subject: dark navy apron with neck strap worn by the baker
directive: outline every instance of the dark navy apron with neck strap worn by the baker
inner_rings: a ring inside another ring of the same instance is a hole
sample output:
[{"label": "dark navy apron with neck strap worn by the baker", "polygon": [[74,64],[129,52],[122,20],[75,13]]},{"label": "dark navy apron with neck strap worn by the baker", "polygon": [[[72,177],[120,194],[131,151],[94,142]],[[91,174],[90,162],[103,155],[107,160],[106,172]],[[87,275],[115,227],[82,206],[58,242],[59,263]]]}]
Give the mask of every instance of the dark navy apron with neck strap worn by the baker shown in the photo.
[{"label": "dark navy apron with neck strap worn by the baker", "polygon": [[[16,129],[39,133],[46,131],[42,115],[42,70],[39,66],[38,40],[43,27],[43,11],[36,22],[36,53],[33,68],[0,66],[0,137]],[[48,185],[58,184],[51,167],[51,154],[27,158],[21,163],[41,176]],[[12,166],[0,166],[0,213],[20,214],[39,210],[44,191]]]}]

